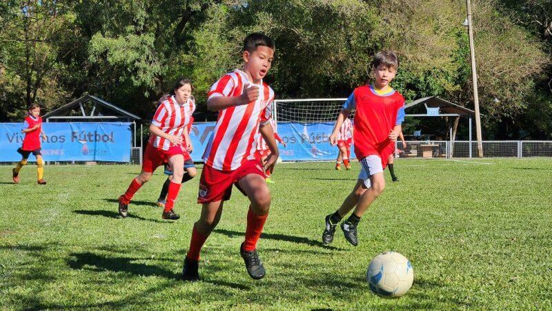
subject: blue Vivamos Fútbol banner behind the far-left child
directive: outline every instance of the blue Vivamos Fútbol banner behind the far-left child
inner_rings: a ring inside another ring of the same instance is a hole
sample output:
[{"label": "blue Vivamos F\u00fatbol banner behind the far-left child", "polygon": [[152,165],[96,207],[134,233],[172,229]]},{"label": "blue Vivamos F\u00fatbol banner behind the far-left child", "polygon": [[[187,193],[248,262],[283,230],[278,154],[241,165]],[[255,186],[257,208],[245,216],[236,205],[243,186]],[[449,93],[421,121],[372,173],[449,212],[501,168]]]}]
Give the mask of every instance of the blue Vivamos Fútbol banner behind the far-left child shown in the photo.
[{"label": "blue Vivamos F\u00fatbol banner behind the far-left child", "polygon": [[[21,160],[21,123],[0,123],[0,162]],[[47,140],[41,140],[45,161],[130,162],[130,123],[42,123]],[[29,160],[34,160],[31,156]]]}]

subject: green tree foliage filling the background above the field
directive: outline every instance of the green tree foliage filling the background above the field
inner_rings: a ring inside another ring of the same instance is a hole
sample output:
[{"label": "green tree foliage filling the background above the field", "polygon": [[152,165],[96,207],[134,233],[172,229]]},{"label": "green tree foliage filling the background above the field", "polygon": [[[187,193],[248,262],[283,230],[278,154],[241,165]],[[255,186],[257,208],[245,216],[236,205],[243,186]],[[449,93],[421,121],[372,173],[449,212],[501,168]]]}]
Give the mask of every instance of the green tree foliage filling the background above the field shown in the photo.
[{"label": "green tree foliage filling the background above the field", "polygon": [[[549,138],[550,0],[473,0],[480,106],[488,138]],[[0,118],[90,93],[142,117],[177,77],[199,106],[242,63],[248,32],[277,44],[267,78],[278,97],[341,97],[369,79],[381,48],[400,55],[393,86],[473,107],[464,1],[89,0],[0,3]]]}]

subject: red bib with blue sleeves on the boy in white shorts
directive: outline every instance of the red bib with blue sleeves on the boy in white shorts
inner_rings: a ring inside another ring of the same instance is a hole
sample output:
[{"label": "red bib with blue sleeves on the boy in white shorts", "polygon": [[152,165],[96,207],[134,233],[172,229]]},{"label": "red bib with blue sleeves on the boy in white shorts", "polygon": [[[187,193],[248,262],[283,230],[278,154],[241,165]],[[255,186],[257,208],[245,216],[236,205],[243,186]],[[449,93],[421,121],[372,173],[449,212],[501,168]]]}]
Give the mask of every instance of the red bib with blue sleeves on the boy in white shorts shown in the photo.
[{"label": "red bib with blue sleeves on the boy in white shorts", "polygon": [[365,85],[355,88],[343,108],[356,109],[353,129],[357,158],[380,156],[386,167],[387,158],[395,149],[389,133],[404,120],[404,97],[393,89],[380,95],[373,86]]}]

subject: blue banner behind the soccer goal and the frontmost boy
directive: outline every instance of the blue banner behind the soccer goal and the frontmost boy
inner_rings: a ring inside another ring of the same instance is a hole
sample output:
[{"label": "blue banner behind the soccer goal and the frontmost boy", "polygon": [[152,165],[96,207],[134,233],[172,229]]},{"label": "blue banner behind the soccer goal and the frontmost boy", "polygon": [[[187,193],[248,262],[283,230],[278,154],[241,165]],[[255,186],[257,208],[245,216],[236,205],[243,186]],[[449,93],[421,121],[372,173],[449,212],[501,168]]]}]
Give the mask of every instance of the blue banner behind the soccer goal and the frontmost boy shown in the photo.
[{"label": "blue banner behind the soccer goal and the frontmost boy", "polygon": [[[278,144],[280,156],[284,161],[335,160],[338,149],[329,143],[333,131],[333,122],[320,123],[278,123],[278,135],[287,147]],[[201,161],[215,122],[195,123],[190,133],[194,151],[194,161]]]}]

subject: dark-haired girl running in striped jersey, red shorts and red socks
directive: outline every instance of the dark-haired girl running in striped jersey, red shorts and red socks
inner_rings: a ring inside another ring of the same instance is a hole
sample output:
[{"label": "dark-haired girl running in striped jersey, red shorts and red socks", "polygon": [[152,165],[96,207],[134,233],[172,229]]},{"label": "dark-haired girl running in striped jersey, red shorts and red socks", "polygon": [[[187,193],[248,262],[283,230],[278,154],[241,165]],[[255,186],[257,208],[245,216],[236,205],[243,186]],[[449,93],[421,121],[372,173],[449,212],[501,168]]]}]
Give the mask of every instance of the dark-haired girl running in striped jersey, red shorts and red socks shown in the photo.
[{"label": "dark-haired girl running in striped jersey, red shorts and red socks", "polygon": [[[152,135],[146,146],[142,170],[139,176],[130,182],[125,194],[119,197],[121,217],[128,216],[128,204],[136,191],[150,180],[159,165],[168,162],[173,168],[172,180],[168,186],[165,209],[161,217],[170,220],[180,218],[172,207],[175,205],[184,175],[184,159],[190,158],[188,151],[192,149],[188,131],[186,131],[186,126],[190,122],[190,113],[187,109],[190,106],[191,94],[192,82],[189,79],[180,79],[172,88],[171,96],[157,107],[150,125]],[[183,145],[184,142],[186,146]]]}]

